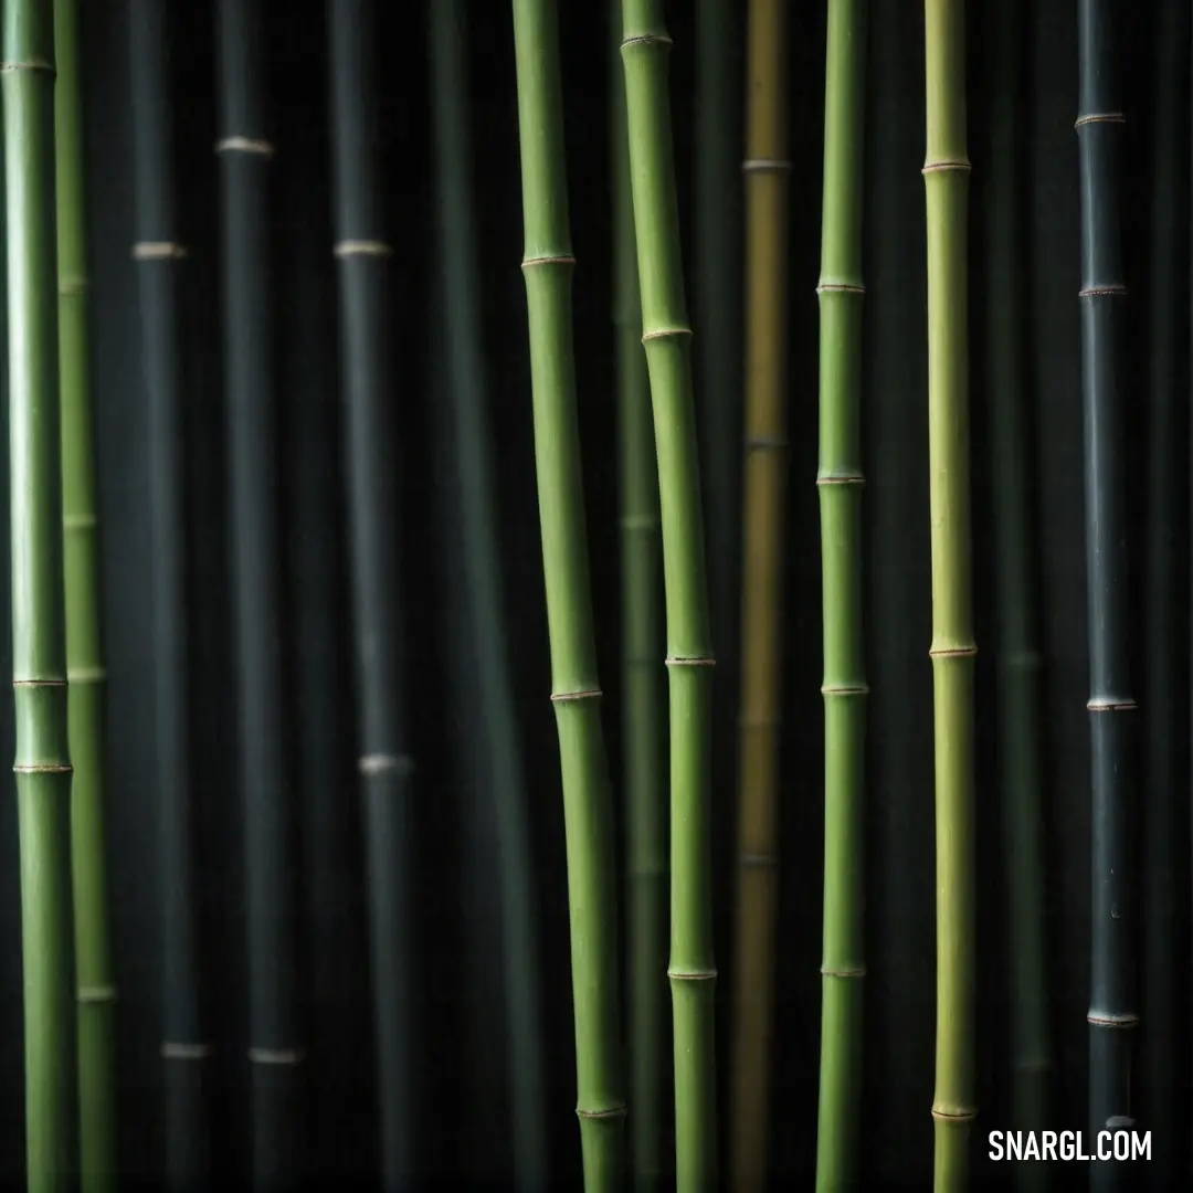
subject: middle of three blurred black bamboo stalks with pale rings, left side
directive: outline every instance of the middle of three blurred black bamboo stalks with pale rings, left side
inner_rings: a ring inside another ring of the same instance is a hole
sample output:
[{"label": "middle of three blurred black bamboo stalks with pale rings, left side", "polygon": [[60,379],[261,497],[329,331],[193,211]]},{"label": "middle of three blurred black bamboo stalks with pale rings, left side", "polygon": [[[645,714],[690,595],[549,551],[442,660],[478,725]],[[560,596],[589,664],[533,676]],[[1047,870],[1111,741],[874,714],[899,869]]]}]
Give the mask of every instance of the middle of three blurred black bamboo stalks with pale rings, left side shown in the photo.
[{"label": "middle of three blurred black bamboo stalks with pale rings, left side", "polygon": [[218,73],[224,370],[247,853],[254,1186],[303,1172],[295,801],[286,756],[265,41],[259,0],[221,0]]}]

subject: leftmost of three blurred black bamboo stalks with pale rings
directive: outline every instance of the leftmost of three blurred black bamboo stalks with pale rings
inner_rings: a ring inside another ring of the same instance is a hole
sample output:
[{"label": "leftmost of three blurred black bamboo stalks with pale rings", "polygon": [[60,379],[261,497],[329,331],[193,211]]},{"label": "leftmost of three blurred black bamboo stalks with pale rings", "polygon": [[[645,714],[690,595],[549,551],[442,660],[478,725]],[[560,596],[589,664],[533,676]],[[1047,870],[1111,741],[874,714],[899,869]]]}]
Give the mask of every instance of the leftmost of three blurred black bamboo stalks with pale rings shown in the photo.
[{"label": "leftmost of three blurred black bamboo stalks with pale rings", "polygon": [[172,180],[168,0],[132,0],[132,177],[141,353],[147,398],[149,544],[161,882],[166,1181],[198,1193],[209,1172],[190,756],[179,243]]}]

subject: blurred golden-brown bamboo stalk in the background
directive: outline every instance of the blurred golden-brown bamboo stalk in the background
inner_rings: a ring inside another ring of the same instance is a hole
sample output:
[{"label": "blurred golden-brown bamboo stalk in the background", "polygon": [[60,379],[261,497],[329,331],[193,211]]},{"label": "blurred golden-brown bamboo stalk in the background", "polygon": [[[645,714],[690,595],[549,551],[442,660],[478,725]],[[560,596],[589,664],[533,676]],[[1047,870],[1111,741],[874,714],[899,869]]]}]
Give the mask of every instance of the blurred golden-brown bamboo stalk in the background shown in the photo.
[{"label": "blurred golden-brown bamboo stalk in the background", "polygon": [[787,5],[750,0],[746,63],[746,466],[742,509],[733,1187],[769,1157],[777,799],[787,464]]}]

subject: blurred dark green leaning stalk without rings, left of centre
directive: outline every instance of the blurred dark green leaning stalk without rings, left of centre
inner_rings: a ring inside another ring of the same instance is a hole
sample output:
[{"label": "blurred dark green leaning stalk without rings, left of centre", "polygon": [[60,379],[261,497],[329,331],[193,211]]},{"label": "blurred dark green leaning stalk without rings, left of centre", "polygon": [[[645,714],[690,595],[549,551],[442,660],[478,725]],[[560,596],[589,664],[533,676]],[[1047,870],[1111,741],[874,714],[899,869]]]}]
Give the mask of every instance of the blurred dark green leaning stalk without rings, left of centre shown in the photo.
[{"label": "blurred dark green leaning stalk without rings, left of centre", "polygon": [[524,1193],[545,1193],[542,1007],[534,939],[528,808],[506,651],[505,600],[489,456],[492,429],[481,336],[472,210],[466,6],[440,0],[431,13],[433,115],[449,397],[456,428],[464,571],[474,628],[481,718],[500,851],[501,937],[509,1049],[514,1175]]}]

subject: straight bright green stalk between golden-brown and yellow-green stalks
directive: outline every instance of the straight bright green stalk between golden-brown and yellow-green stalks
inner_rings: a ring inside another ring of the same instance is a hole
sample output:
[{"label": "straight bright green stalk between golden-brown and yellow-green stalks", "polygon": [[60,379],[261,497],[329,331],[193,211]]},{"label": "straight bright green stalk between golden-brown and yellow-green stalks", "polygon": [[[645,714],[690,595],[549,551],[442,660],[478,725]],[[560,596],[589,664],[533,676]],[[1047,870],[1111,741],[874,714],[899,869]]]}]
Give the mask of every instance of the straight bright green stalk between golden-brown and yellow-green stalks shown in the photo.
[{"label": "straight bright green stalk between golden-brown and yellow-green stalks", "polygon": [[821,210],[820,468],[824,607],[824,944],[816,1188],[857,1187],[866,975],[861,280],[866,0],[829,0]]}]

